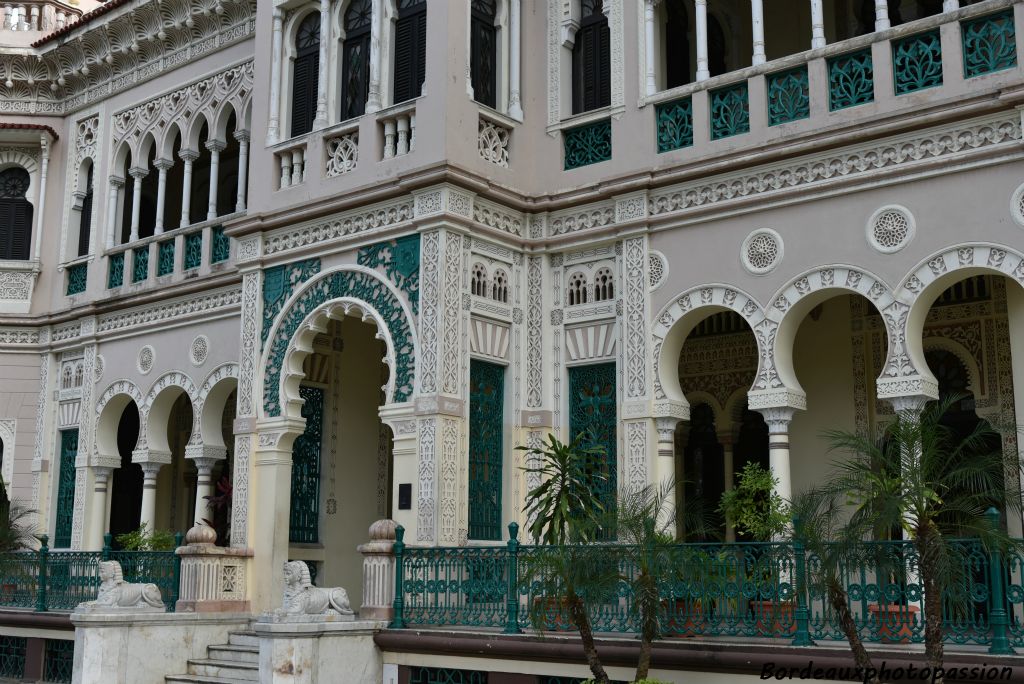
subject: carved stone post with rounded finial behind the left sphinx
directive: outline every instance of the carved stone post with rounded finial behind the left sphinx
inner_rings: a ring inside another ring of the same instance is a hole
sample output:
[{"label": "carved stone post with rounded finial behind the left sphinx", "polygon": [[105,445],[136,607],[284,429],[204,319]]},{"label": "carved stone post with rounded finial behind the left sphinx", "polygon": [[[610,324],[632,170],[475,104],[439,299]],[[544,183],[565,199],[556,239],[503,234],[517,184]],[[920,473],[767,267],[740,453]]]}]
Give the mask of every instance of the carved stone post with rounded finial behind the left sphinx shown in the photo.
[{"label": "carved stone post with rounded finial behind the left sphinx", "polygon": [[199,524],[185,535],[181,556],[181,581],[177,612],[247,612],[246,563],[249,549],[219,547],[217,533]]}]

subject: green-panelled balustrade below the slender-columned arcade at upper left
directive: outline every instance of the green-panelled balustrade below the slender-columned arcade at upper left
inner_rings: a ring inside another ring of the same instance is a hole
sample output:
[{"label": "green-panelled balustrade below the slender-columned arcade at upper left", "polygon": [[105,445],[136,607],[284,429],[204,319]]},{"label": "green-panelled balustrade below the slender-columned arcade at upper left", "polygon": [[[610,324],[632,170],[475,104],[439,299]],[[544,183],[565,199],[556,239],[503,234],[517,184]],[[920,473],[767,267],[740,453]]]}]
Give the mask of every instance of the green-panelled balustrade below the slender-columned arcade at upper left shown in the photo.
[{"label": "green-panelled balustrade below the slender-columned arcade at upper left", "polygon": [[[175,274],[191,277],[199,273],[204,263],[213,267],[227,261],[231,255],[230,238],[224,234],[223,226],[210,223],[212,221],[112,250],[106,255],[106,289],[143,285]],[[208,259],[204,259],[205,245],[210,246]],[[127,273],[126,268],[129,269]]]}]

